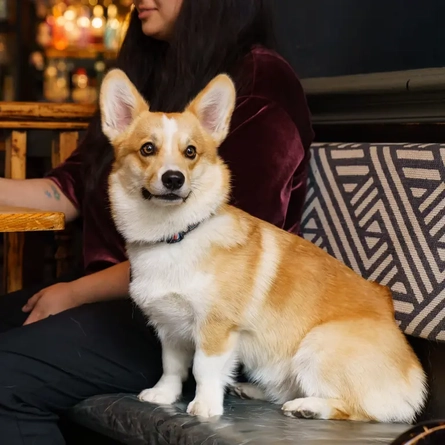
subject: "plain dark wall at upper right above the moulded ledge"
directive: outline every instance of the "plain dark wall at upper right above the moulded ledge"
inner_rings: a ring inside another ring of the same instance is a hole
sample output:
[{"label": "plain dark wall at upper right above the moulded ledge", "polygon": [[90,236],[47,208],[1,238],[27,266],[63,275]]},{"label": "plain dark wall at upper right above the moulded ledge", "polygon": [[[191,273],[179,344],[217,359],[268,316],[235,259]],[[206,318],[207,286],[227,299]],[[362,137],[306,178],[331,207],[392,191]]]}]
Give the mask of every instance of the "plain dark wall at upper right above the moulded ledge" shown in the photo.
[{"label": "plain dark wall at upper right above the moulded ledge", "polygon": [[445,0],[274,0],[300,77],[445,66]]}]

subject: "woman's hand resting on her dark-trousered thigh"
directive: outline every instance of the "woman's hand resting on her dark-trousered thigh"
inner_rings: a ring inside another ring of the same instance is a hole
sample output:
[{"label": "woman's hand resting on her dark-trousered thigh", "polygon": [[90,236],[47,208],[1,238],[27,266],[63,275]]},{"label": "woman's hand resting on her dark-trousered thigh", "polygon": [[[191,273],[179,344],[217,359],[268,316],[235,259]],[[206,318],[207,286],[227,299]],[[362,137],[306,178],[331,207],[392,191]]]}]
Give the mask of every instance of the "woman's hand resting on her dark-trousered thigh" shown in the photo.
[{"label": "woman's hand resting on her dark-trousered thigh", "polygon": [[73,283],[57,283],[33,295],[23,306],[23,312],[30,312],[24,325],[34,323],[50,315],[58,314],[79,306]]}]

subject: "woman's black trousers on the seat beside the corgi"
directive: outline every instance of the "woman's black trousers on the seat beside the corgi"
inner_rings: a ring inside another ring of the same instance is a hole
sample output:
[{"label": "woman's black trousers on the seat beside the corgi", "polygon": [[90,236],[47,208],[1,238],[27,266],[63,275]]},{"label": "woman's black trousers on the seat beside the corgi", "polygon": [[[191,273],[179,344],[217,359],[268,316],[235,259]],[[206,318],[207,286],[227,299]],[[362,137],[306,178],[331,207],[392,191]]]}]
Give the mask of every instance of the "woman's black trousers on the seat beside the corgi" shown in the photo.
[{"label": "woman's black trousers on the seat beside the corgi", "polygon": [[161,375],[160,345],[130,300],[22,326],[37,290],[0,296],[0,443],[59,445],[59,416],[90,396],[138,393]]}]

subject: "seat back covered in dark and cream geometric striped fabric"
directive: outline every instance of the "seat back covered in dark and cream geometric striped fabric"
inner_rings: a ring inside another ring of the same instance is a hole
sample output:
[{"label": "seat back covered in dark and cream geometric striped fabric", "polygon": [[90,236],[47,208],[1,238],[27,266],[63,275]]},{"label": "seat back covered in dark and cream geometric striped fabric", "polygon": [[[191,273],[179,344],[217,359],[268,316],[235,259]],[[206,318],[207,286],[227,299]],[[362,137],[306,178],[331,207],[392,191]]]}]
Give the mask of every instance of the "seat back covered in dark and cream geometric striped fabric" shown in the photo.
[{"label": "seat back covered in dark and cream geometric striped fabric", "polygon": [[303,236],[393,293],[407,334],[445,341],[445,145],[313,144]]}]

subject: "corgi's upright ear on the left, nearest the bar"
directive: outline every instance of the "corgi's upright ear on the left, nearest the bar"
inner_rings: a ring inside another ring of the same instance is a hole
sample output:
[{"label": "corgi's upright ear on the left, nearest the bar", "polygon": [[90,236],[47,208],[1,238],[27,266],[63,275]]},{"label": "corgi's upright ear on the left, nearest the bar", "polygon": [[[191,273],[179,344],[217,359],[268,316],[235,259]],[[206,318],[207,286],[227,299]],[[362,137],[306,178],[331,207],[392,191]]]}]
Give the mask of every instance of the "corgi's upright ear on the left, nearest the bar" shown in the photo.
[{"label": "corgi's upright ear on the left, nearest the bar", "polygon": [[99,101],[102,131],[111,142],[127,129],[139,113],[149,109],[127,75],[118,69],[109,71],[105,76]]}]

